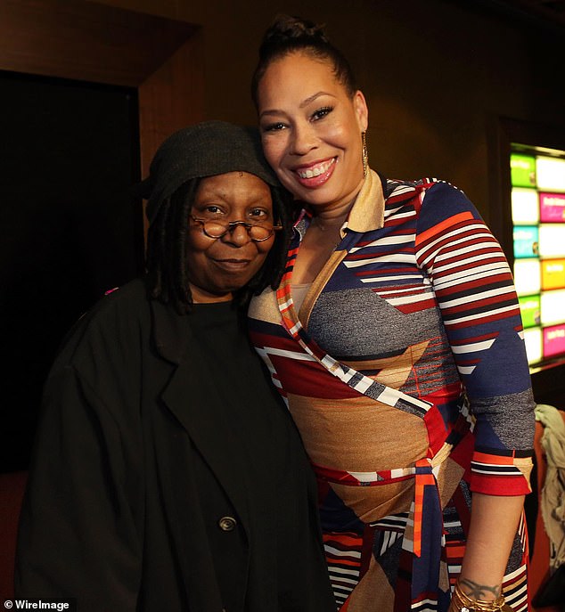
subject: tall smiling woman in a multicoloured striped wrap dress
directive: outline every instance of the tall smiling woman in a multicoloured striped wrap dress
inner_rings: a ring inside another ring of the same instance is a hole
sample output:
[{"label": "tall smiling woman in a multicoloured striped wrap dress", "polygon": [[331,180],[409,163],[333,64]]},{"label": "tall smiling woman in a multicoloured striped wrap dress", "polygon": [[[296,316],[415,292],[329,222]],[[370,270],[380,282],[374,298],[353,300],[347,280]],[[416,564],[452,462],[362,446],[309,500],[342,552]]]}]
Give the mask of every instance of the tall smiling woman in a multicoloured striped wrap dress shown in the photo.
[{"label": "tall smiling woman in a multicoloured striped wrap dress", "polygon": [[250,330],[315,468],[337,608],[523,612],[534,400],[504,254],[454,186],[368,167],[321,29],[279,18],[259,56],[264,151],[301,211]]}]

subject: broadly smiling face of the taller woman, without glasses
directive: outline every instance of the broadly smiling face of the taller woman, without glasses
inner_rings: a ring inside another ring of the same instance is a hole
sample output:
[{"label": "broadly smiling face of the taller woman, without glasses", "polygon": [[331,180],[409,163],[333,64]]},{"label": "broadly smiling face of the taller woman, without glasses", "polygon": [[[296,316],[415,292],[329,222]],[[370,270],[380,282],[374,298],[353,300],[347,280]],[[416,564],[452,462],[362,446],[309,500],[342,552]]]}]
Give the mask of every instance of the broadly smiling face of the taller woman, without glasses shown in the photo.
[{"label": "broadly smiling face of the taller woman, without glasses", "polygon": [[263,149],[281,183],[314,207],[346,208],[363,184],[364,96],[349,96],[331,61],[290,53],[258,84]]}]

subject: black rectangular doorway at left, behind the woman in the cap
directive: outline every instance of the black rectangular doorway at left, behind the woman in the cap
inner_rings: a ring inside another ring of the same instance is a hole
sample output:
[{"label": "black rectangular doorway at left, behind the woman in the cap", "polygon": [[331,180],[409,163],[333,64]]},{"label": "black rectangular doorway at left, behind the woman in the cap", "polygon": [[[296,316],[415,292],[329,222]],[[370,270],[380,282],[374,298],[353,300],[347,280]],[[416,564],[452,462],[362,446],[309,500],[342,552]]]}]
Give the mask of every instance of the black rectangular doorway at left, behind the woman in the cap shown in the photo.
[{"label": "black rectangular doorway at left, behind the woman in the cap", "polygon": [[0,470],[26,469],[65,332],[143,270],[137,90],[0,72]]}]

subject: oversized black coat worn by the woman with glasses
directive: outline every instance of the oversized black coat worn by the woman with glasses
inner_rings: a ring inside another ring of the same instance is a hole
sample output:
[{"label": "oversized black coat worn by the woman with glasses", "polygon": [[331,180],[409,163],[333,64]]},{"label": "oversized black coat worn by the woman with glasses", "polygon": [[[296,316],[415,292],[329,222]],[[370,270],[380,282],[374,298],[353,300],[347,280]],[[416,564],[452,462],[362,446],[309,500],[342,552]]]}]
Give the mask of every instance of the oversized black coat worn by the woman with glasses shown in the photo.
[{"label": "oversized black coat worn by the woman with glasses", "polygon": [[286,409],[275,404],[293,475],[281,494],[296,504],[280,517],[262,483],[245,484],[218,384],[187,317],[147,300],[141,281],[78,322],[45,385],[18,597],[74,597],[81,612],[335,609],[314,479]]}]

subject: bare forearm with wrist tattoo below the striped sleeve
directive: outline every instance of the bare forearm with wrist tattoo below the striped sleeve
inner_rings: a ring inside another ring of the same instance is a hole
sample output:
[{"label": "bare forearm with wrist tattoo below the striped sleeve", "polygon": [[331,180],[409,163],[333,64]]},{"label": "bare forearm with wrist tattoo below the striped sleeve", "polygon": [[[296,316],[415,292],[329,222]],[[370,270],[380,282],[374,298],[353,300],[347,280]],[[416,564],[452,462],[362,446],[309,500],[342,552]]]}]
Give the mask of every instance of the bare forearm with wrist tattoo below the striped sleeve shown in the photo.
[{"label": "bare forearm with wrist tattoo below the striped sleeve", "polygon": [[520,522],[524,496],[475,493],[471,526],[459,578],[464,593],[474,600],[495,600]]}]

